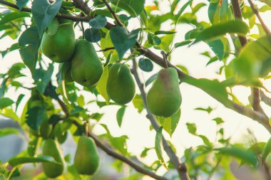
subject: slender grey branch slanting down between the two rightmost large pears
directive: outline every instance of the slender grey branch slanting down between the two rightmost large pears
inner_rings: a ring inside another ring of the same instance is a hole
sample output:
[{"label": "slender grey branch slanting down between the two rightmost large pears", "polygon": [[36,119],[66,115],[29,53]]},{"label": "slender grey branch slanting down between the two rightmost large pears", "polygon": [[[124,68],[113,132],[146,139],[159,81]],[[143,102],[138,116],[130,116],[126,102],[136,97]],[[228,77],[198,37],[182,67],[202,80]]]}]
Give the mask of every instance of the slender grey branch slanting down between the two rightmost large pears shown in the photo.
[{"label": "slender grey branch slanting down between the two rightmost large pears", "polygon": [[[158,129],[159,129],[159,125],[158,125],[158,122],[157,122],[155,116],[148,109],[147,98],[146,98],[146,94],[145,94],[145,90],[144,90],[144,85],[143,85],[143,83],[141,83],[140,78],[138,76],[138,71],[136,69],[136,59],[135,58],[133,58],[132,73],[133,73],[133,76],[136,79],[136,83],[137,83],[138,88],[140,90],[140,94],[141,94],[141,98],[143,100],[145,110],[147,111],[146,117],[150,120],[150,124],[153,126],[153,129],[155,129],[155,131],[157,132]],[[175,166],[175,169],[177,169],[178,174],[180,175],[180,178],[182,180],[189,180],[190,177],[188,175],[187,166],[184,163],[180,164],[178,157],[173,152],[173,149],[170,147],[170,145],[168,144],[168,142],[165,140],[165,138],[163,136],[162,136],[162,139],[163,139],[163,149],[165,149],[165,152],[168,154],[168,157],[170,158],[170,162],[172,162],[174,164],[174,166]]]}]

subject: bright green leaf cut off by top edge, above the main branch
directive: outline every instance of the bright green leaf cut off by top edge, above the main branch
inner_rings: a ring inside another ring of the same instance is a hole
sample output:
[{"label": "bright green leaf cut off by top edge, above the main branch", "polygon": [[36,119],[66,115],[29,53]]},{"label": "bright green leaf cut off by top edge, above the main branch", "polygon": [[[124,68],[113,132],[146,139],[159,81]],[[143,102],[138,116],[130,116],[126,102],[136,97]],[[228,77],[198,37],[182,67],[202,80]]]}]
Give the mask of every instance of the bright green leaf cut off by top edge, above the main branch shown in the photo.
[{"label": "bright green leaf cut off by top edge, above the main branch", "polygon": [[144,10],[145,0],[111,0],[111,3],[136,17]]}]

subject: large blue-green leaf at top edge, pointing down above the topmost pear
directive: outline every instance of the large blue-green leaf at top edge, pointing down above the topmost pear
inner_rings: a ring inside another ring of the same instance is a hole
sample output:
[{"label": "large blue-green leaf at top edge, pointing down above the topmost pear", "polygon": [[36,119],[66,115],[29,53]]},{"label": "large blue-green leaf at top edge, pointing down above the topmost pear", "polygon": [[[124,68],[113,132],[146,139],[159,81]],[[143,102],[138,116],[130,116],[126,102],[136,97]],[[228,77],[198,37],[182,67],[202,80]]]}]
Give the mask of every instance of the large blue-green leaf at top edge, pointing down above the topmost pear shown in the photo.
[{"label": "large blue-green leaf at top edge, pointing down above the topmost pear", "polygon": [[53,21],[53,18],[61,7],[61,4],[62,0],[56,0],[53,4],[49,3],[49,1],[40,0],[34,0],[32,3],[31,11],[40,36],[44,33],[47,25]]}]

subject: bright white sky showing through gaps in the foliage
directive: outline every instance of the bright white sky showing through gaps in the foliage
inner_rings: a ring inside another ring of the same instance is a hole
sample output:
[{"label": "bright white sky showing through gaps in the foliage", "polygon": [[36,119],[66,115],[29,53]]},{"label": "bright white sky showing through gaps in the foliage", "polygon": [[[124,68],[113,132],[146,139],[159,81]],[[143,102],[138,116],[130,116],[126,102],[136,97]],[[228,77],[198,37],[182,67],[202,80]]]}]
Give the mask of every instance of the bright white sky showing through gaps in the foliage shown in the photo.
[{"label": "bright white sky showing through gaps in the foliage", "polygon": [[[151,1],[147,1],[147,4],[150,4],[150,2]],[[208,4],[208,1],[203,2]],[[180,6],[182,6],[184,3],[185,1],[183,1]],[[168,1],[163,1],[163,6],[161,7],[164,8],[163,11],[168,11],[170,8],[168,6]],[[208,21],[207,9],[208,6],[205,6],[203,9],[198,11],[197,15],[199,20]],[[271,28],[270,16],[270,12],[262,14],[262,18],[269,28]],[[162,27],[163,30],[169,30],[168,28],[170,27],[170,24],[165,23]],[[177,27],[177,29],[178,33],[175,37],[175,42],[180,42],[184,40],[184,34],[191,29],[191,26],[181,24]],[[255,29],[253,29],[253,31],[257,32]],[[12,41],[10,38],[2,39],[0,41],[0,50],[8,48],[14,42],[15,41]],[[188,68],[190,75],[195,78],[218,78],[216,72],[218,72],[221,63],[212,63],[211,65],[205,67],[206,63],[208,62],[208,58],[200,55],[200,53],[203,53],[204,51],[210,51],[210,48],[205,45],[205,43],[198,43],[194,46],[191,46],[190,48],[178,48],[178,50],[174,51],[172,54],[172,63],[175,65],[185,65],[185,67]],[[160,54],[159,51],[157,51],[157,53]],[[11,65],[15,62],[21,62],[18,51],[9,53],[3,59],[0,59],[0,73],[6,72],[6,70],[10,68]],[[141,79],[147,80],[150,75],[153,75],[153,73],[157,72],[159,69],[160,68],[155,65],[155,70],[153,70],[152,73],[141,73],[140,71]],[[22,78],[21,80],[29,82],[30,78]],[[267,89],[271,87],[270,80],[266,81],[265,87]],[[180,85],[180,90],[183,97],[180,122],[172,138],[168,137],[168,134],[164,133],[165,137],[170,139],[170,141],[175,144],[178,155],[180,157],[183,155],[184,149],[202,144],[198,137],[194,137],[188,133],[185,125],[186,122],[194,122],[198,127],[198,134],[204,134],[205,136],[209,137],[211,141],[215,139],[216,126],[215,122],[211,121],[215,117],[222,117],[223,120],[225,120],[225,136],[232,137],[232,142],[242,139],[243,134],[247,134],[247,128],[250,128],[252,132],[255,133],[255,137],[257,137],[259,142],[266,142],[270,137],[270,134],[264,127],[262,127],[262,125],[259,125],[257,122],[250,120],[250,118],[244,117],[237,112],[228,110],[202,90],[199,90],[198,88],[192,87],[188,84]],[[248,103],[247,97],[250,95],[249,88],[237,87],[233,90],[241,102],[245,104]],[[137,92],[139,92],[139,90]],[[11,99],[16,100],[19,93],[26,93],[26,95],[29,96],[29,92],[24,92],[24,90],[20,90],[20,92],[14,92],[14,90],[10,90],[6,94],[6,97],[10,97]],[[86,97],[86,102],[90,98],[93,97]],[[24,98],[23,103],[25,102],[26,97]],[[215,111],[210,115],[208,115],[206,112],[194,110],[196,107],[208,106],[215,108]],[[267,112],[267,115],[271,116],[270,107],[267,107],[265,104],[262,104],[262,107],[265,109],[265,112]],[[145,117],[145,111],[141,112],[139,115],[137,110],[133,107],[132,103],[130,103],[128,108],[126,108],[126,112],[123,118],[123,125],[121,128],[118,127],[116,122],[116,112],[119,107],[103,107],[99,110],[96,105],[90,105],[88,108],[91,112],[98,110],[98,112],[105,113],[100,123],[108,125],[108,128],[111,130],[113,135],[128,135],[128,151],[132,154],[136,154],[139,157],[140,152],[142,152],[144,147],[154,147],[155,132],[150,132],[149,130],[150,122]],[[21,112],[21,110],[19,110],[19,112]],[[98,126],[94,130],[97,134],[104,132],[103,128]],[[149,153],[148,158],[143,159],[143,162],[150,164],[153,159],[157,159],[154,151]],[[147,179],[149,178],[146,177],[144,180]]]}]

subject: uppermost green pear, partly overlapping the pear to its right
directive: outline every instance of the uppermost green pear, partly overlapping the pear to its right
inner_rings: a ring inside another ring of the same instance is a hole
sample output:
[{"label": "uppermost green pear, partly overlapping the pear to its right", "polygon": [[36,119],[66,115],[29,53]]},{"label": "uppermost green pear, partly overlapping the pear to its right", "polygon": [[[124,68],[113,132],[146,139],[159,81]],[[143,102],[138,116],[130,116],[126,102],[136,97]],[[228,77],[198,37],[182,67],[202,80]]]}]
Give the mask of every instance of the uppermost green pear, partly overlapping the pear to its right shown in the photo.
[{"label": "uppermost green pear, partly overlapping the pear to its right", "polygon": [[42,38],[42,53],[53,62],[63,63],[71,58],[75,46],[73,23],[60,23],[57,18],[54,18]]}]

